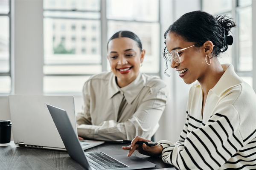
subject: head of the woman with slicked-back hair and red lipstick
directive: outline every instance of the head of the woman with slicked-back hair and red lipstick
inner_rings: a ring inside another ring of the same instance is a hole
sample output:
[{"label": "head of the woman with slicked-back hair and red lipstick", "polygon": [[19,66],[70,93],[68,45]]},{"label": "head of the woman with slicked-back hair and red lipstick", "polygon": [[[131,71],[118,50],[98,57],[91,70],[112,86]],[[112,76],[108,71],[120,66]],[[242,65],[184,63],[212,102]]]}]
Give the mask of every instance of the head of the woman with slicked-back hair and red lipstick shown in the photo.
[{"label": "head of the woman with slicked-back hair and red lipstick", "polygon": [[138,76],[145,56],[140,39],[130,31],[119,31],[110,38],[107,48],[108,60],[111,71],[117,77],[117,85],[124,87],[130,84]]}]

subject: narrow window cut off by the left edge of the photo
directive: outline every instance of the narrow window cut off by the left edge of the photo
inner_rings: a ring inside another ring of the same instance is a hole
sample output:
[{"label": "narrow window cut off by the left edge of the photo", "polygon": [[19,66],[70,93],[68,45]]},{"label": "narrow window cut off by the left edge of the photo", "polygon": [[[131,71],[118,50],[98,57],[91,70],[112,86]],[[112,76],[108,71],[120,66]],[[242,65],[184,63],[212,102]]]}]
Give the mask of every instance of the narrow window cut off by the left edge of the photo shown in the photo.
[{"label": "narrow window cut off by the left edge of the photo", "polygon": [[9,94],[12,89],[10,58],[10,0],[0,0],[0,93]]}]

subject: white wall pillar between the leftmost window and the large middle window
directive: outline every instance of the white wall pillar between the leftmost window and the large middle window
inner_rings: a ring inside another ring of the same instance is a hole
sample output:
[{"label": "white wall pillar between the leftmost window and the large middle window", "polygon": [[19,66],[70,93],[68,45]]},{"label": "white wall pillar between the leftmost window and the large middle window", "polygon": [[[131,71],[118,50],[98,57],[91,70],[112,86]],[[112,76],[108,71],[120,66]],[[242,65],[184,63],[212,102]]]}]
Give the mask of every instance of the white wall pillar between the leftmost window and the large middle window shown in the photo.
[{"label": "white wall pillar between the leftmost window and the large middle window", "polygon": [[14,93],[43,94],[43,1],[14,3]]}]

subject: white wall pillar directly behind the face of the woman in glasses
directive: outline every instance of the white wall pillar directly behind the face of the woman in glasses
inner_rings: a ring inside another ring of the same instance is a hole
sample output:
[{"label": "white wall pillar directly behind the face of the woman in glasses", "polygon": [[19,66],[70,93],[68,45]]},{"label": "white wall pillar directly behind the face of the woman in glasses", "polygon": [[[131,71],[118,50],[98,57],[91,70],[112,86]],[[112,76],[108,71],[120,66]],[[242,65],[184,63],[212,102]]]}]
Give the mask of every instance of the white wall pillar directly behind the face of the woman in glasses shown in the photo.
[{"label": "white wall pillar directly behind the face of the woman in glasses", "polygon": [[[161,38],[164,42],[163,34],[167,28],[180,16],[190,11],[200,10],[200,0],[160,0],[160,22],[161,22]],[[162,44],[162,49],[164,44]],[[186,104],[191,85],[186,85],[183,79],[179,77],[177,71],[169,67],[167,73],[170,77],[164,75],[166,68],[165,60],[162,59],[161,74],[162,79],[169,86],[169,103],[160,119],[160,127],[155,135],[155,141],[162,139],[171,142],[177,141],[183,126],[186,122]]]}]

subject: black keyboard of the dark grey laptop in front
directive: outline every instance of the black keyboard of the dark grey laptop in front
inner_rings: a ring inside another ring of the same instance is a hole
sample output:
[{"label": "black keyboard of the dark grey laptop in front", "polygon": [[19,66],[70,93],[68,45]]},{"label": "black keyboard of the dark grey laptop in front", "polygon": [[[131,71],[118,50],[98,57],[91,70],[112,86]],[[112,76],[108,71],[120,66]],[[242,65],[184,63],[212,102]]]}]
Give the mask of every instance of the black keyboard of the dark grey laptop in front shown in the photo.
[{"label": "black keyboard of the dark grey laptop in front", "polygon": [[[105,153],[84,153],[90,165],[96,170],[116,169],[128,167],[119,161],[109,157]],[[93,164],[93,165],[92,165]]]}]

